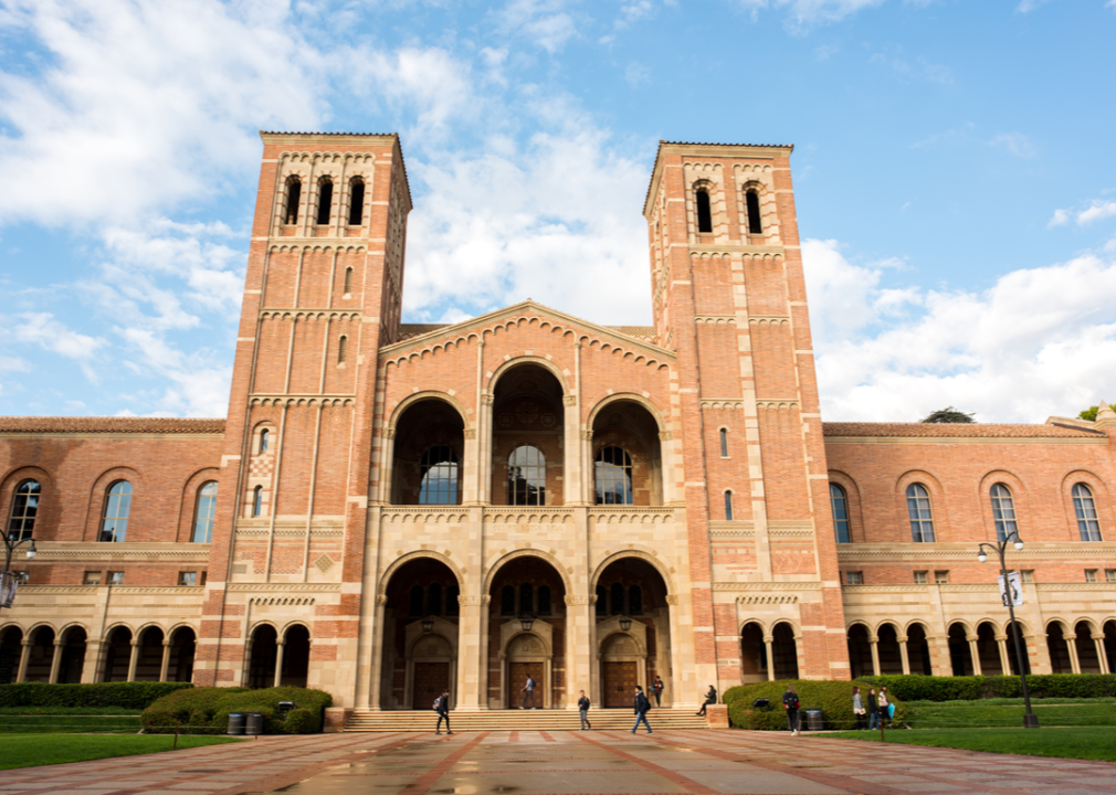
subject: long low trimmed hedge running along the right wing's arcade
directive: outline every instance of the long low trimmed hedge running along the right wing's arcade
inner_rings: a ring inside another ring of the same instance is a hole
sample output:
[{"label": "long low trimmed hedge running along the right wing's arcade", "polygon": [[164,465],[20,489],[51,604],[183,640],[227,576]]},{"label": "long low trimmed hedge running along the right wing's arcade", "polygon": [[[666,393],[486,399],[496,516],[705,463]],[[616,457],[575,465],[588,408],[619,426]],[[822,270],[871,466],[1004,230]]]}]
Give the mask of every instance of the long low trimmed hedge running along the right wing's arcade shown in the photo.
[{"label": "long low trimmed hedge running along the right wing's arcade", "polygon": [[[1020,698],[1019,677],[862,677],[886,685],[904,701],[974,701],[981,698]],[[1116,696],[1116,673],[1029,673],[1031,698],[1106,698]]]}]

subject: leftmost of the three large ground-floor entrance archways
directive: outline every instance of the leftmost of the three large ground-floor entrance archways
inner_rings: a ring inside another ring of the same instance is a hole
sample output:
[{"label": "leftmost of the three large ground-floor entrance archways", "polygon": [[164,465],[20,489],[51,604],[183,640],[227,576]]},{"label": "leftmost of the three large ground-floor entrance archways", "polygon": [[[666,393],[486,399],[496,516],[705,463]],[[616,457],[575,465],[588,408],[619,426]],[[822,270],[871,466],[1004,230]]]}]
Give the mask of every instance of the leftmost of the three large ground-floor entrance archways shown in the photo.
[{"label": "leftmost of the three large ground-floor entrance archways", "polygon": [[430,709],[444,689],[455,705],[461,591],[453,570],[435,558],[413,558],[385,590],[382,707]]}]

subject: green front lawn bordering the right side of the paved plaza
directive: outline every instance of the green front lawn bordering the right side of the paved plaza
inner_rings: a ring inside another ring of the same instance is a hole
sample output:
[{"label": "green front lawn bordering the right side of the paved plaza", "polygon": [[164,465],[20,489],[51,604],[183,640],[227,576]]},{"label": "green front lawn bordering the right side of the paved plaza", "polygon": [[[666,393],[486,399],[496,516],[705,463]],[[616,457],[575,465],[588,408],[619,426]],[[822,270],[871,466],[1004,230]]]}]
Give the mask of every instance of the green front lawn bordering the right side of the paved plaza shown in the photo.
[{"label": "green front lawn bordering the right side of the paved plaza", "polygon": [[[878,731],[840,731],[815,735],[815,739],[831,737],[879,741]],[[1056,756],[1064,759],[1104,759],[1116,762],[1116,730],[1095,728],[1068,729],[895,729],[885,733],[887,743],[929,745],[935,748],[964,748],[993,754],[1027,754]]]}]

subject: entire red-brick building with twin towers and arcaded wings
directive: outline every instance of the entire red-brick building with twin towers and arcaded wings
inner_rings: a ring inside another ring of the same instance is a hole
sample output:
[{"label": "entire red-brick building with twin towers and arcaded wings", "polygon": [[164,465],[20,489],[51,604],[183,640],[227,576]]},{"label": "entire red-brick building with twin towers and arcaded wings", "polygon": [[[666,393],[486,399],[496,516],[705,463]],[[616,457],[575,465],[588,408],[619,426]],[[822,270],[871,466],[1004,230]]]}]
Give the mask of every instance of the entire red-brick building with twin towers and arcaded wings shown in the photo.
[{"label": "entire red-brick building with twin towers and arcaded wings", "polygon": [[345,708],[1116,653],[1116,414],[822,423],[789,146],[663,143],[652,327],[401,323],[394,135],[263,134],[224,420],[0,418],[0,680],[308,683]]}]

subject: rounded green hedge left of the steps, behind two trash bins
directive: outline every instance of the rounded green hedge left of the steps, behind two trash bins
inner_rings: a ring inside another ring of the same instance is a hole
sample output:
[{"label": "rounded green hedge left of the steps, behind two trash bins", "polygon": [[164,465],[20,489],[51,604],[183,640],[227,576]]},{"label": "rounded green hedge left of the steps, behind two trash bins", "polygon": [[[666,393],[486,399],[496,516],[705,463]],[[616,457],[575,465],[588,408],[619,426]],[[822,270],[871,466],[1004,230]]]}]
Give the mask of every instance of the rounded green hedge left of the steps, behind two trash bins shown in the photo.
[{"label": "rounded green hedge left of the steps, behind two trash bins", "polygon": [[[286,720],[280,719],[280,701],[296,706]],[[321,731],[323,712],[330,704],[328,692],[302,687],[196,687],[164,696],[144,710],[142,719],[150,734],[223,735],[229,712],[262,712],[263,734],[308,735]]]}]

